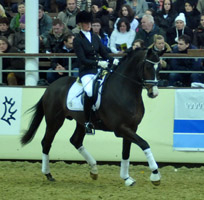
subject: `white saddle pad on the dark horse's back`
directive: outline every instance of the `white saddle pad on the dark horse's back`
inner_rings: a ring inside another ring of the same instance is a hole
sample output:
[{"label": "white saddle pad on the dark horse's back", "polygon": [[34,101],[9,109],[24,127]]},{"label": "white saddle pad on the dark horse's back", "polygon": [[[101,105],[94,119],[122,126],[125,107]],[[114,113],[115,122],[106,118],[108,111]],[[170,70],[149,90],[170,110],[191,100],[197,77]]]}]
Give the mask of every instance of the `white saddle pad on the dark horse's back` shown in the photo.
[{"label": "white saddle pad on the dark horse's back", "polygon": [[[98,97],[96,100],[96,103],[93,105],[92,109],[98,110],[101,104],[101,91],[102,91],[102,83],[104,81],[104,78],[101,80],[101,84],[98,91]],[[82,93],[83,93],[83,87],[82,84],[78,82],[74,82],[71,86],[70,90],[67,94],[67,108],[69,110],[74,111],[83,111],[84,106],[82,104]]]}]

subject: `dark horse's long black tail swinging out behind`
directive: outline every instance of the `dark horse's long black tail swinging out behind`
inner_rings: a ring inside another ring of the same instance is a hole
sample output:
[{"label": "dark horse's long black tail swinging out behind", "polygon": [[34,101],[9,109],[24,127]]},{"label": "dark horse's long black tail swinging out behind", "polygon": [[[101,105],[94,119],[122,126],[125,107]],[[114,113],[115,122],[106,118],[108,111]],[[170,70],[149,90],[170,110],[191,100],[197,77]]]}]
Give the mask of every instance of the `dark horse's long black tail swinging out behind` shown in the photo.
[{"label": "dark horse's long black tail swinging out behind", "polygon": [[22,145],[26,145],[32,141],[44,117],[42,98],[38,101],[36,105],[34,105],[33,107],[27,110],[27,112],[33,112],[33,111],[35,112],[30,121],[29,129],[24,132],[23,136],[20,139]]}]

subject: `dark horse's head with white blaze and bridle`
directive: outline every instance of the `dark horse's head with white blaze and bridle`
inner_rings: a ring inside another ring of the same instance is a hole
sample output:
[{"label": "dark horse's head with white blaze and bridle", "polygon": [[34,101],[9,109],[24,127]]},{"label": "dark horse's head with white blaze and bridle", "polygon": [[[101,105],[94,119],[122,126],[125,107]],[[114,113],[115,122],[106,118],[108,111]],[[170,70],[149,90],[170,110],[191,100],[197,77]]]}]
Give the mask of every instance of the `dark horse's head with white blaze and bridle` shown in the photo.
[{"label": "dark horse's head with white blaze and bridle", "polygon": [[144,58],[143,66],[143,82],[147,89],[148,96],[155,98],[159,94],[158,90],[158,74],[159,74],[160,58],[152,49],[148,49]]}]

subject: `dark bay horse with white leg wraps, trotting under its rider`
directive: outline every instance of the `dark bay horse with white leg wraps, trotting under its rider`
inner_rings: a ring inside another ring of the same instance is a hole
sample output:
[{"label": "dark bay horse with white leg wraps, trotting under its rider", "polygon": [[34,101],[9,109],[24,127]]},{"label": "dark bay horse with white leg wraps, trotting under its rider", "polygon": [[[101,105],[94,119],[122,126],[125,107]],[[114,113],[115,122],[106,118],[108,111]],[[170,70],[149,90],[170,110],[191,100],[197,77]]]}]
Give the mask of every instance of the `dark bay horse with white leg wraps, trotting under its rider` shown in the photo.
[{"label": "dark bay horse with white leg wraps, trotting under its rider", "polygon": [[[104,83],[101,105],[92,115],[95,129],[112,131],[116,137],[123,138],[123,151],[120,177],[125,185],[131,186],[135,180],[129,176],[129,154],[131,143],[137,144],[144,152],[150,170],[150,180],[153,184],[160,184],[158,166],[150,150],[149,144],[137,135],[136,131],[144,115],[142,89],[147,89],[150,98],[158,95],[157,75],[159,71],[159,55],[152,50],[136,50],[122,58],[119,66],[112,71]],[[97,179],[98,170],[96,160],[83,146],[85,137],[83,111],[71,111],[66,106],[67,92],[75,82],[74,77],[58,79],[51,84],[30,110],[35,111],[29,129],[21,137],[21,144],[29,143],[45,116],[46,132],[42,139],[42,172],[52,181],[49,170],[49,152],[54,137],[64,120],[75,119],[76,129],[70,138],[71,144],[79,151],[90,165],[90,174]],[[100,119],[100,120],[99,120]]]}]

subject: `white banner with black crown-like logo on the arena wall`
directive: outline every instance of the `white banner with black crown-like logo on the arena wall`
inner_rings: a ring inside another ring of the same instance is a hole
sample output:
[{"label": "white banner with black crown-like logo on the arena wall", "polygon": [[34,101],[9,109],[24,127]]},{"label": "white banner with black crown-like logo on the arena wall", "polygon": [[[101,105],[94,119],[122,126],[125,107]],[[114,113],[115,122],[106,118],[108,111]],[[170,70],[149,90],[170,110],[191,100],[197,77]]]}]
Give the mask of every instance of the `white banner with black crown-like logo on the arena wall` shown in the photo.
[{"label": "white banner with black crown-like logo on the arena wall", "polygon": [[22,88],[0,88],[0,135],[18,135],[21,124]]}]

